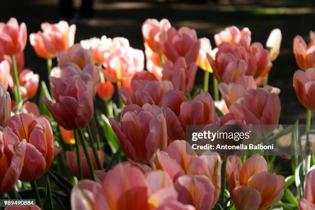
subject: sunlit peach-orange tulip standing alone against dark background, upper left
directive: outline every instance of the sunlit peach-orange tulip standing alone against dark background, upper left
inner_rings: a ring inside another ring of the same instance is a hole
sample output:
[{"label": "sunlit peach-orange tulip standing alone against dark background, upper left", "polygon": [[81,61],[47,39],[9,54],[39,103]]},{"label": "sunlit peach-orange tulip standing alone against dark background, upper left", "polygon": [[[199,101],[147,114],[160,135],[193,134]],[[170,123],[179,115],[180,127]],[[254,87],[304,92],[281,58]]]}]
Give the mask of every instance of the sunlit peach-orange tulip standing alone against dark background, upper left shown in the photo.
[{"label": "sunlit peach-orange tulip standing alone against dark background, upper left", "polygon": [[36,54],[42,58],[56,58],[57,51],[66,51],[74,43],[76,26],[65,21],[49,24],[42,23],[42,31],[31,33],[30,44]]}]

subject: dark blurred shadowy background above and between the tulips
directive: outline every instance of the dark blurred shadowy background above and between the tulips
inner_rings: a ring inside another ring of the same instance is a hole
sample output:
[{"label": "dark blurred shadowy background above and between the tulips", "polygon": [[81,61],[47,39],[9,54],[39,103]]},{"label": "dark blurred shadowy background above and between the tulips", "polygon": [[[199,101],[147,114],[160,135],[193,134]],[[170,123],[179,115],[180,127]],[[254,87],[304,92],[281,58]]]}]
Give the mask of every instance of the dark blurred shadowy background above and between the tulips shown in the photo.
[{"label": "dark blurred shadowy background above and between the tulips", "polygon": [[[63,1],[63,0],[62,0]],[[292,42],[296,34],[309,41],[309,30],[315,30],[314,0],[202,0],[202,1],[93,1],[90,19],[80,16],[82,0],[73,0],[75,13],[60,13],[59,0],[2,0],[0,22],[11,16],[25,22],[28,34],[40,30],[43,22],[55,23],[67,18],[77,25],[75,42],[91,37],[125,37],[134,48],[143,49],[141,26],[147,18],[167,18],[178,28],[188,26],[196,29],[198,38],[210,39],[227,26],[249,27],[252,42],[265,45],[270,31],[279,28],[283,34],[281,51],[273,63],[269,84],[281,89],[282,124],[293,124],[296,116],[305,122],[305,109],[292,88],[295,63]],[[68,15],[67,15],[68,14]],[[68,16],[68,17],[67,17]],[[56,61],[54,61],[56,64]],[[36,56],[29,42],[25,49],[25,67],[47,78],[46,61]],[[203,72],[197,75],[201,84]],[[212,85],[209,85],[212,87]],[[212,93],[212,90],[210,90]],[[315,96],[314,96],[315,97]]]}]

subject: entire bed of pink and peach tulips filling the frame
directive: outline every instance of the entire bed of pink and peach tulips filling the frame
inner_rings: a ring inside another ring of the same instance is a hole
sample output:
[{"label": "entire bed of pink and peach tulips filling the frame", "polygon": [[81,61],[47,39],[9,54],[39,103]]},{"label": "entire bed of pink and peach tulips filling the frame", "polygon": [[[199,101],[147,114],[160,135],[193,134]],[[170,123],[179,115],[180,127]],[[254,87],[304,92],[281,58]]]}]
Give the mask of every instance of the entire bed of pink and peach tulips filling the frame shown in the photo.
[{"label": "entire bed of pink and peach tulips filling the frame", "polygon": [[[0,23],[1,198],[25,198],[31,188],[32,209],[315,209],[313,31],[308,45],[293,41],[301,68],[293,86],[307,109],[310,154],[281,155],[295,174],[285,178],[274,173],[275,155],[200,155],[184,140],[188,125],[261,125],[261,138],[277,135],[280,90],[268,74],[279,29],[265,48],[251,43],[248,28],[231,26],[215,34],[213,49],[194,29],[148,19],[145,53],[122,37],[74,44],[76,26],[64,21],[41,29],[29,41],[47,60],[48,84],[23,69],[26,25]],[[204,71],[202,88],[197,71]],[[295,130],[282,133],[279,139],[302,141]]]}]

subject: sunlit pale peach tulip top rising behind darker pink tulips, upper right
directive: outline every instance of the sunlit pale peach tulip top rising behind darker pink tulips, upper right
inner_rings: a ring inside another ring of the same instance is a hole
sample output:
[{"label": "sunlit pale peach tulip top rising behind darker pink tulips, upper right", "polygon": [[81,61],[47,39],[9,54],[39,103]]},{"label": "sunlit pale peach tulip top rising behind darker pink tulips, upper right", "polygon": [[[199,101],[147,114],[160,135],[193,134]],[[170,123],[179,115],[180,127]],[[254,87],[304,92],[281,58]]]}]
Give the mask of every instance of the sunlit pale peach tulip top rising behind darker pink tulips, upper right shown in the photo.
[{"label": "sunlit pale peach tulip top rising behind darker pink tulips, upper right", "polygon": [[248,28],[243,28],[240,31],[236,26],[230,26],[216,33],[214,39],[217,46],[223,42],[229,42],[236,46],[248,48],[251,44],[251,31]]}]

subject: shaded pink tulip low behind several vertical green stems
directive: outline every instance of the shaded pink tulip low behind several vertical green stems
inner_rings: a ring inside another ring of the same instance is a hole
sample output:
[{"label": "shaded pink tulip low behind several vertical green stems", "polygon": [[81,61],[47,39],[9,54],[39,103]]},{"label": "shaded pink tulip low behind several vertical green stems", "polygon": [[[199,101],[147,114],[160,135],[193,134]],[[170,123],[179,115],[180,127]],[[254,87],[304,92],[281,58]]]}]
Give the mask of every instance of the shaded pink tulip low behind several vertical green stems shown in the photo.
[{"label": "shaded pink tulip low behind several vertical green stems", "polygon": [[[96,160],[95,160],[95,157],[93,155],[93,150],[91,147],[88,147],[88,152],[89,152],[89,155],[91,157],[93,168],[97,169]],[[100,165],[102,166],[104,164],[104,152],[102,150],[99,150],[99,151],[96,151],[96,153],[97,153]],[[72,174],[74,174],[74,176],[78,177],[78,163],[77,163],[76,149],[73,152],[67,151],[66,156],[67,156],[67,163],[68,163],[68,166],[69,166]],[[82,146],[80,146],[80,159],[81,159],[81,164],[82,164],[83,179],[91,179],[91,172],[89,170],[88,161],[86,161],[85,153],[84,153]]]}]

